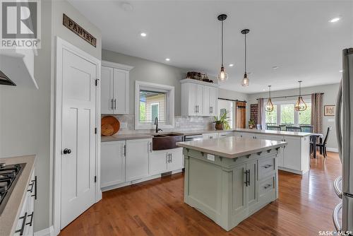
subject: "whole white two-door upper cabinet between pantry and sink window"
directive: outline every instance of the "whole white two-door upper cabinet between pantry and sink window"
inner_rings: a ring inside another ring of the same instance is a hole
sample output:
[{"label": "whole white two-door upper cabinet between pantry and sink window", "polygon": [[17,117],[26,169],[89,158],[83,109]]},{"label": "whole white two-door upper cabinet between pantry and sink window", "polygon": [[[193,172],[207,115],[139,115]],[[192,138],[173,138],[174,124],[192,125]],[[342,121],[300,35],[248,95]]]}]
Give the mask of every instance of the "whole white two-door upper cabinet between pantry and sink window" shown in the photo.
[{"label": "whole white two-door upper cabinet between pantry and sink window", "polygon": [[128,114],[131,69],[133,69],[132,66],[102,61],[102,114]]}]

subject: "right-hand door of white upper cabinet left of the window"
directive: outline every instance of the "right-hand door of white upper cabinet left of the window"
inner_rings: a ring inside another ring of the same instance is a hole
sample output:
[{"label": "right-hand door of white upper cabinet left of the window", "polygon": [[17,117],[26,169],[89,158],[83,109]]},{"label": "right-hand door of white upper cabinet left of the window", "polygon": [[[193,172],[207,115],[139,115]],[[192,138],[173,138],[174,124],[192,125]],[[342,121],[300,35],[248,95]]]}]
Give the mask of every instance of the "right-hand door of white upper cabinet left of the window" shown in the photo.
[{"label": "right-hand door of white upper cabinet left of the window", "polygon": [[128,71],[114,69],[114,114],[128,114]]}]

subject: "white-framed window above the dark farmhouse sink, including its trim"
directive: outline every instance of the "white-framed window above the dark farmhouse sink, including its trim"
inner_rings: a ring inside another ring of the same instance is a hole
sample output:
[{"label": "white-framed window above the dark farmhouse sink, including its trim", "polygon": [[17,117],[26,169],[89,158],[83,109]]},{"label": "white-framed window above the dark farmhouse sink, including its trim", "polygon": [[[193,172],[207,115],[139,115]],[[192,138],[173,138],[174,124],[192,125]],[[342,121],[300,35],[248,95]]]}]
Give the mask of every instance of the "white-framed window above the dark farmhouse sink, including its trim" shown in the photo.
[{"label": "white-framed window above the dark farmhouse sink, including its trim", "polygon": [[135,129],[154,129],[155,118],[163,129],[174,127],[174,87],[136,81]]}]

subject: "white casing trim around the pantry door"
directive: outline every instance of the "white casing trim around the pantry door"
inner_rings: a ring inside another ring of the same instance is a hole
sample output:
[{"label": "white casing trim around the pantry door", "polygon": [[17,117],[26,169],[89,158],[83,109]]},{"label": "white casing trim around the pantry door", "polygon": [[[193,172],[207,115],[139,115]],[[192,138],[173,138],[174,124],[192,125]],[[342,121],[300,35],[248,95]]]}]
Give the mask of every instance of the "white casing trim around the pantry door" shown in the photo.
[{"label": "white casing trim around the pantry door", "polygon": [[[92,55],[71,45],[69,42],[56,37],[55,55],[55,78],[54,78],[54,179],[53,179],[53,231],[54,235],[59,235],[61,230],[61,110],[62,110],[62,58],[63,51],[67,50],[73,54],[83,57],[97,66],[97,79],[100,79],[101,61]],[[95,202],[102,199],[100,189],[100,83],[96,87],[96,126],[97,136],[95,138],[95,162],[97,182],[95,184]],[[40,232],[42,232],[41,230]],[[38,233],[40,233],[38,232]]]}]

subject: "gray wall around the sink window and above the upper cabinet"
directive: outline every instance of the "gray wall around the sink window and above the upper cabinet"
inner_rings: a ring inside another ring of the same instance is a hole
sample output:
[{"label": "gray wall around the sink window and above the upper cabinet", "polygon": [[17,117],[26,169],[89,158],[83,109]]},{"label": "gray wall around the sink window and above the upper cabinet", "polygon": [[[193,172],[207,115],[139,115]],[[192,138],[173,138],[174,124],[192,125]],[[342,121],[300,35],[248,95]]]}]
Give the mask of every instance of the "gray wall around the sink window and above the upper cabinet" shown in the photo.
[{"label": "gray wall around the sink window and above the upper cabinet", "polygon": [[133,66],[130,71],[130,114],[135,113],[135,81],[148,81],[174,86],[175,115],[179,116],[181,114],[180,80],[186,78],[186,70],[105,49],[102,50],[102,60]]}]

